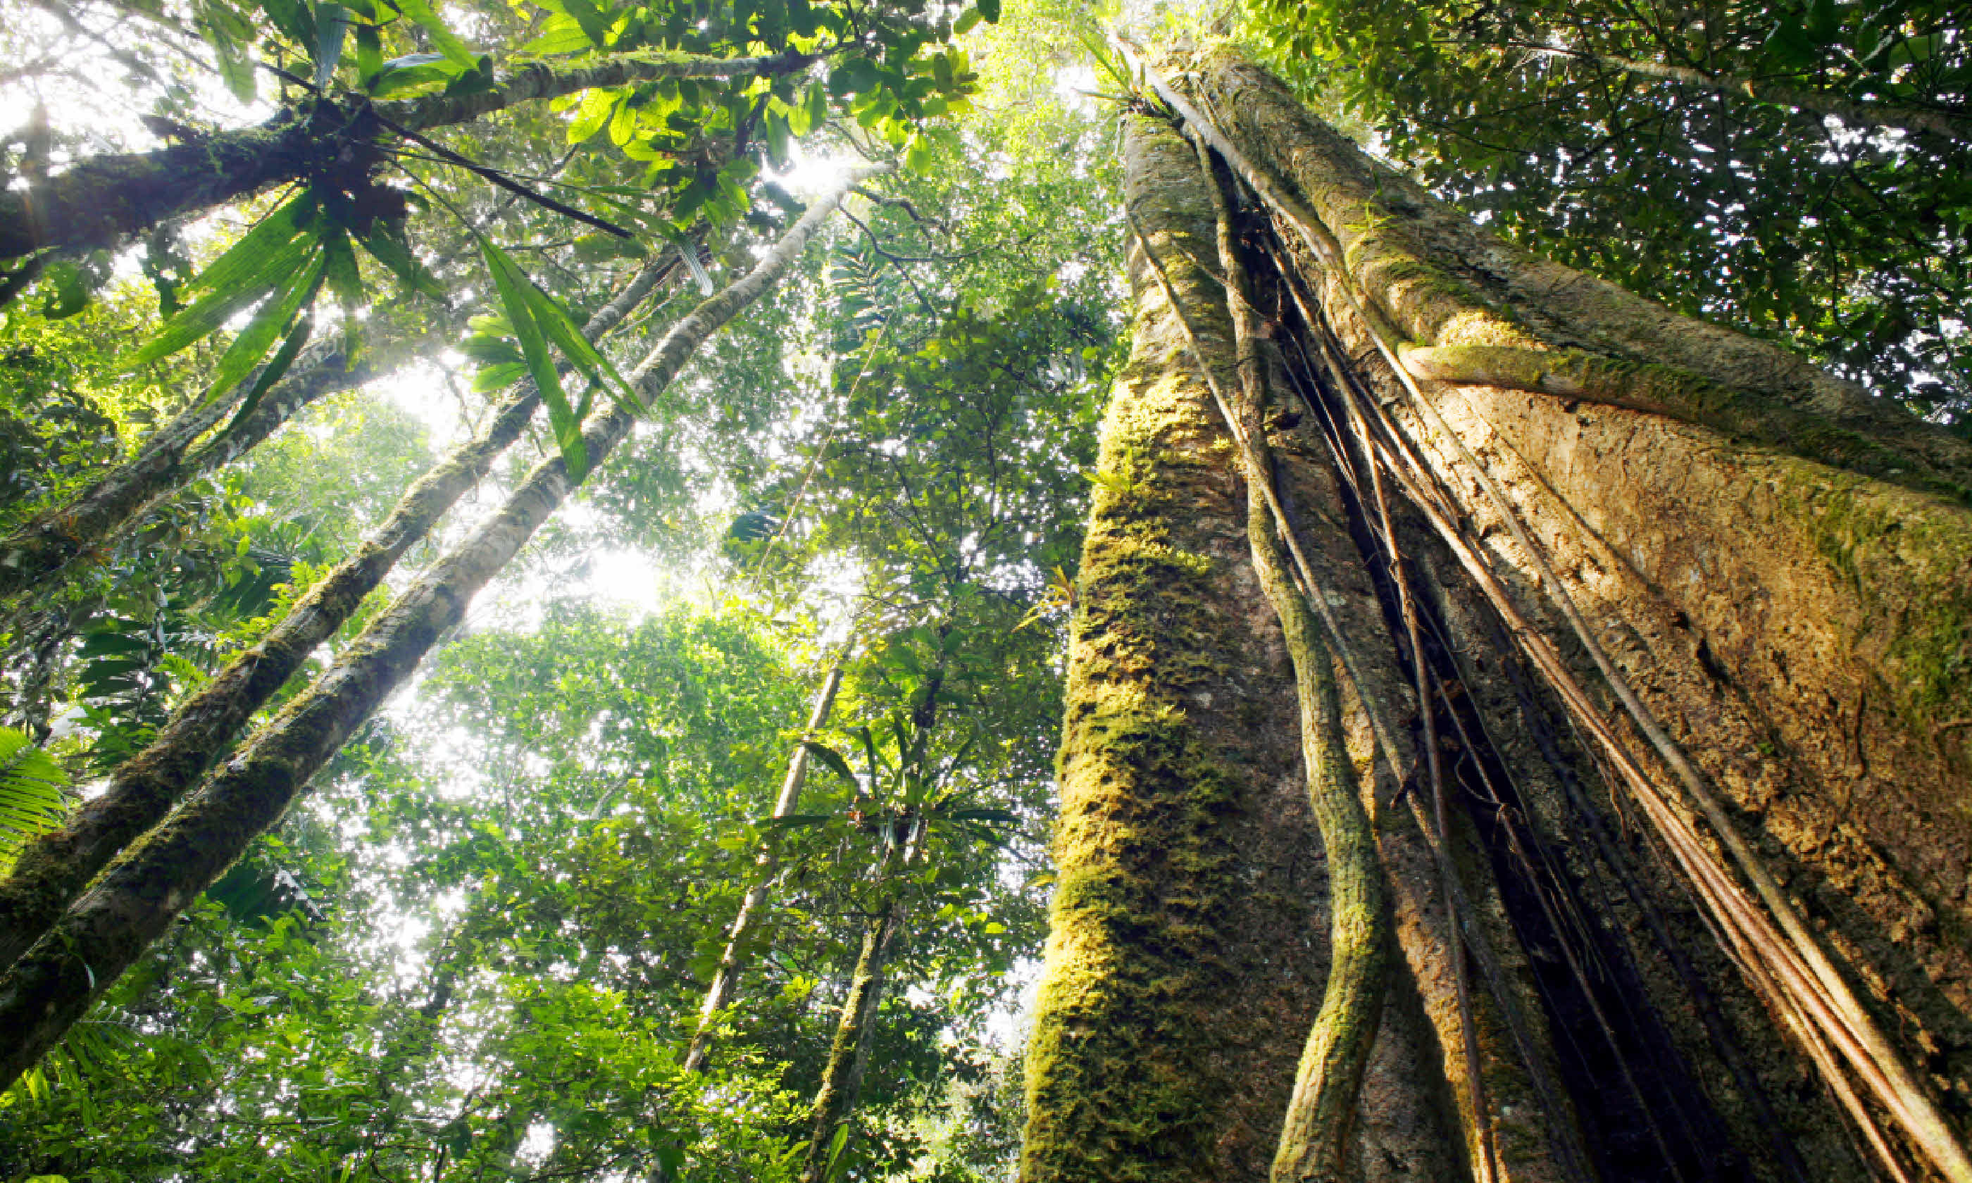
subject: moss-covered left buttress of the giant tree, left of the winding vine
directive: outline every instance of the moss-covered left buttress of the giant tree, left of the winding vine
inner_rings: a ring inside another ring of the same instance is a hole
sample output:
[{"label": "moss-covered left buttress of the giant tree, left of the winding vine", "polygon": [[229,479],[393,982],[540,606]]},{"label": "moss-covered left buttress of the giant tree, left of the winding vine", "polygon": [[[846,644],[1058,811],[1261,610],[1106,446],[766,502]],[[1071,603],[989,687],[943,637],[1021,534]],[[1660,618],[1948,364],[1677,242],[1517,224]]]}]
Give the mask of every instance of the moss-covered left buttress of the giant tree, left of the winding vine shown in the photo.
[{"label": "moss-covered left buttress of the giant tree, left of the winding vine", "polygon": [[[1134,217],[1231,379],[1197,158],[1154,124],[1126,152]],[[1258,1181],[1319,1009],[1325,868],[1232,442],[1142,250],[1132,278],[1069,653],[1021,1177]],[[1363,739],[1357,722],[1367,775]],[[1418,984],[1398,974],[1386,1006],[1353,1157],[1376,1179],[1457,1179],[1449,1098],[1414,1071],[1438,1057]]]}]

